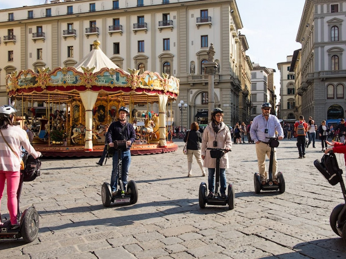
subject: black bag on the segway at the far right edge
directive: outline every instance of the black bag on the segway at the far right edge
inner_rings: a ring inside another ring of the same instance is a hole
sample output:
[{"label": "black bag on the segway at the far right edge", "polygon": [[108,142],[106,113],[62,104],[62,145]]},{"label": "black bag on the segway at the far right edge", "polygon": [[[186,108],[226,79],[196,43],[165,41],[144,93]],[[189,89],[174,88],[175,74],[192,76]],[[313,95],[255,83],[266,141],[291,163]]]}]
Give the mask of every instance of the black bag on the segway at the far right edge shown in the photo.
[{"label": "black bag on the segway at the far right edge", "polygon": [[341,174],[343,173],[343,170],[339,168],[338,161],[334,153],[323,155],[321,162],[316,159],[313,164],[331,185],[336,185],[342,181]]}]

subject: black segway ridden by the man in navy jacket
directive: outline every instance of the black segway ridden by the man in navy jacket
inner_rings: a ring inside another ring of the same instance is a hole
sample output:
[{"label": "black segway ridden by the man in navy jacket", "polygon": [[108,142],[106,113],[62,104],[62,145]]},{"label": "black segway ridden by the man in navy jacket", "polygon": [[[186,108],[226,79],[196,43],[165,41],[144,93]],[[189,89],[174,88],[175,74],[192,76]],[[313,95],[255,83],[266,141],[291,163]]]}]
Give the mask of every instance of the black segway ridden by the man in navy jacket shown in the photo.
[{"label": "black segway ridden by the man in navy jacket", "polygon": [[114,148],[118,150],[118,185],[119,190],[112,194],[112,189],[109,183],[104,182],[101,189],[102,204],[104,207],[109,207],[111,202],[116,204],[129,203],[135,204],[138,200],[138,192],[136,182],[131,180],[127,183],[127,191],[124,190],[124,185],[122,183],[121,175],[122,173],[122,160],[121,154],[122,149],[127,148],[126,140],[114,141]]}]

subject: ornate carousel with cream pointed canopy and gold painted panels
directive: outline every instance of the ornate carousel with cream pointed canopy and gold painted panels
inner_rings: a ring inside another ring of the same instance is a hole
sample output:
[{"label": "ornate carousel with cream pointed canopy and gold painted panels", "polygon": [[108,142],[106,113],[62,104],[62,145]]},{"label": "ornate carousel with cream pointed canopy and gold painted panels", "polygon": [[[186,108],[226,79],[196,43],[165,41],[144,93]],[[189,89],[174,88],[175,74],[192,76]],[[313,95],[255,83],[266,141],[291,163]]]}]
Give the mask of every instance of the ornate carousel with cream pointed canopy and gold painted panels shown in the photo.
[{"label": "ornate carousel with cream pointed canopy and gold painted panels", "polygon": [[[168,139],[173,122],[167,114],[173,114],[168,107],[179,94],[179,79],[124,71],[99,45],[94,41],[93,50],[75,67],[43,67],[37,73],[27,69],[6,76],[7,93],[18,110],[16,122],[33,131],[35,149],[45,156],[100,156],[105,126],[117,120],[120,106],[127,106],[137,134],[131,154],[176,151]],[[139,112],[138,106],[146,111]]]}]

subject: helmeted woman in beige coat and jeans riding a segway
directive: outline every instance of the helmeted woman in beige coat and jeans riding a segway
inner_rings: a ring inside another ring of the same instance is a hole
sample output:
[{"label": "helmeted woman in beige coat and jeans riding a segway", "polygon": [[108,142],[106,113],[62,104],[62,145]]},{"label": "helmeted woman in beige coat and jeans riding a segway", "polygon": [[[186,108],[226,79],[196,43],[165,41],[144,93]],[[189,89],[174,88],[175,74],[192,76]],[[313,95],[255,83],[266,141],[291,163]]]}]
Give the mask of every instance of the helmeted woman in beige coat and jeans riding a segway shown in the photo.
[{"label": "helmeted woman in beige coat and jeans riding a segway", "polygon": [[[224,112],[222,109],[213,109],[211,113],[211,122],[205,128],[202,137],[201,156],[204,160],[204,167],[208,167],[209,198],[214,196],[216,158],[210,157],[210,150],[207,150],[207,147],[224,148],[226,150],[230,150],[232,147],[229,128],[222,122],[223,114]],[[226,197],[226,168],[229,168],[227,153],[220,159],[220,194],[222,198]],[[217,193],[215,195],[217,195]]]}]

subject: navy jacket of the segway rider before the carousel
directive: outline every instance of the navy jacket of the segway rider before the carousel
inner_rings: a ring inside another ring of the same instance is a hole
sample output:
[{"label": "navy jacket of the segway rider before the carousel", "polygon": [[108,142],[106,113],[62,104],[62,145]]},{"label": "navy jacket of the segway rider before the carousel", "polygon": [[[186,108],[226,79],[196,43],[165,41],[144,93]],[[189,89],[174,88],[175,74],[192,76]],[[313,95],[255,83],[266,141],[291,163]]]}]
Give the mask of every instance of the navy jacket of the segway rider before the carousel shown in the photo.
[{"label": "navy jacket of the segway rider before the carousel", "polygon": [[[124,127],[125,129],[123,133],[123,127],[120,121],[112,122],[106,134],[107,142],[111,143],[115,140],[130,140],[131,144],[134,143],[136,139],[136,132],[133,125],[127,122]],[[129,150],[130,147],[131,146],[126,148],[125,151]]]}]

